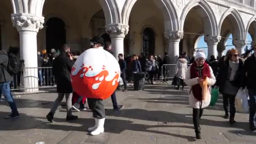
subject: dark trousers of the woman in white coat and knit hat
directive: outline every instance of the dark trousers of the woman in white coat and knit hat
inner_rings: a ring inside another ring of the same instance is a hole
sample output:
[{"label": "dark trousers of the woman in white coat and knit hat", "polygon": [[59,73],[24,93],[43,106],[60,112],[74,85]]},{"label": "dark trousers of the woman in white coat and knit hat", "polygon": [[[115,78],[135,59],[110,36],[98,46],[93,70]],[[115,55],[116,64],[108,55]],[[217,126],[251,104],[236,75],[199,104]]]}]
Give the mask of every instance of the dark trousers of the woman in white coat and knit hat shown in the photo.
[{"label": "dark trousers of the woman in white coat and knit hat", "polygon": [[200,119],[203,115],[203,109],[193,108],[193,123],[196,133],[201,133]]}]

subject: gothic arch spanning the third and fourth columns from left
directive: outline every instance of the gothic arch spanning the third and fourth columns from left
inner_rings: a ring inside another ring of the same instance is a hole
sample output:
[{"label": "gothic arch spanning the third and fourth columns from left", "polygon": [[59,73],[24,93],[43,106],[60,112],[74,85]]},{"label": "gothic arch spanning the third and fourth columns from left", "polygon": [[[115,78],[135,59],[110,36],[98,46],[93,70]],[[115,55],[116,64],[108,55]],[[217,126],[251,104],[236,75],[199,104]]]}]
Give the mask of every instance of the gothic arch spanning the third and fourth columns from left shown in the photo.
[{"label": "gothic arch spanning the third and fourth columns from left", "polygon": [[184,10],[183,10],[183,12],[181,14],[181,19],[180,19],[181,27],[180,27],[180,31],[183,31],[184,22],[185,22],[187,14],[195,6],[200,6],[200,8],[203,9],[202,15],[208,17],[208,21],[204,21],[204,22],[206,22],[206,24],[208,24],[210,26],[210,29],[207,32],[205,32],[205,33],[207,33],[210,36],[217,36],[218,35],[218,24],[217,24],[217,21],[216,21],[216,17],[214,15],[214,12],[211,9],[210,5],[206,2],[206,0],[191,0],[186,5],[186,7],[184,8]]}]

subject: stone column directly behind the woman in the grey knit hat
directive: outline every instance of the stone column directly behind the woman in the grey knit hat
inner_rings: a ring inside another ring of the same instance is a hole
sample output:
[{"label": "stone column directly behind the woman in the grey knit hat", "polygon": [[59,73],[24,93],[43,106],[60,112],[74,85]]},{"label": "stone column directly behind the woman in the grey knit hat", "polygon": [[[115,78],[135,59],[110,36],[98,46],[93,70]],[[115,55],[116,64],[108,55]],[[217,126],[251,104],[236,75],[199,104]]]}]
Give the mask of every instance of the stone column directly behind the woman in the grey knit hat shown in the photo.
[{"label": "stone column directly behind the woman in the grey knit hat", "polygon": [[217,45],[221,40],[220,36],[205,36],[205,43],[208,45],[208,59],[211,56],[215,56],[217,58],[218,51],[217,51]]}]

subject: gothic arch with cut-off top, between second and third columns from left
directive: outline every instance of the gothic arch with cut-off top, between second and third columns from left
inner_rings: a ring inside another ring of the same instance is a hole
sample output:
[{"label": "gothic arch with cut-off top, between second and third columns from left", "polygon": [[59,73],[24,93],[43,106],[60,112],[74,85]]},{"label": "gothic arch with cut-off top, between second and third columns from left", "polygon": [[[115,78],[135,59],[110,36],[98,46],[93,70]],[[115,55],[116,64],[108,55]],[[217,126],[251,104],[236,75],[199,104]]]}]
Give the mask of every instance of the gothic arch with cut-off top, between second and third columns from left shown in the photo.
[{"label": "gothic arch with cut-off top, between second and third columns from left", "polygon": [[[125,5],[122,11],[123,24],[128,25],[131,10],[136,1],[137,0],[125,1]],[[178,31],[179,21],[172,2],[170,0],[153,0],[153,2],[163,11],[163,17],[165,19],[165,31]]]}]

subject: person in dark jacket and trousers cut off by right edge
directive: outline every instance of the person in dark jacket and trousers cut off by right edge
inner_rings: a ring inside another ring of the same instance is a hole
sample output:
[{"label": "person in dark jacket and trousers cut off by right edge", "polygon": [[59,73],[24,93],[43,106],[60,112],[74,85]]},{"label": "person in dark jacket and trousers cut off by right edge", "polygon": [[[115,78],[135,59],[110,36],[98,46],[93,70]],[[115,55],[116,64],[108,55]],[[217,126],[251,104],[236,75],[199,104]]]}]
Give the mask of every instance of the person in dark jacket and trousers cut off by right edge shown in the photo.
[{"label": "person in dark jacket and trousers cut off by right edge", "polygon": [[243,66],[243,88],[247,87],[250,97],[250,129],[256,131],[256,47],[253,50],[253,55],[245,60]]}]

